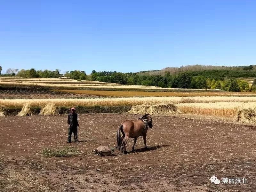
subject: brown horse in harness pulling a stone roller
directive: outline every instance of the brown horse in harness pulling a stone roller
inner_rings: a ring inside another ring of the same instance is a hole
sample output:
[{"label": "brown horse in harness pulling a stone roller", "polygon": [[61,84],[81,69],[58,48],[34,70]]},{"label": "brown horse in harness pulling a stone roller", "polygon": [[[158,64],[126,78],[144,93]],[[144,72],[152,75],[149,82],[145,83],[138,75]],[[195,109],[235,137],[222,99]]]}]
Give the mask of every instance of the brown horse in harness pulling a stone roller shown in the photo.
[{"label": "brown horse in harness pulling a stone roller", "polygon": [[[129,138],[134,138],[133,140],[133,146],[132,151],[134,150],[135,143],[137,141],[137,138],[140,136],[143,136],[145,149],[147,149],[146,145],[146,136],[148,127],[152,128],[152,118],[149,114],[145,114],[141,118],[139,118],[136,121],[131,120],[125,120],[122,124],[118,126],[117,133],[116,133],[116,140],[117,140],[117,147],[120,150],[120,147],[122,146],[121,150],[124,152],[124,154],[127,153],[125,145],[128,142]],[[122,136],[121,136],[122,133]]]}]

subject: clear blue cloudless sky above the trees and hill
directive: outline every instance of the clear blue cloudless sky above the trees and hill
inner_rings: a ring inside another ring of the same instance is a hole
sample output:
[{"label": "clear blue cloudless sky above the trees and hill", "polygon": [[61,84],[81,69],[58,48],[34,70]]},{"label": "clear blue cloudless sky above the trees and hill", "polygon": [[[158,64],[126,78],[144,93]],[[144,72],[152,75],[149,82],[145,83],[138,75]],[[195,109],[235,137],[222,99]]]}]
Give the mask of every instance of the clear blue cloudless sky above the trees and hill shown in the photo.
[{"label": "clear blue cloudless sky above the trees and hill", "polygon": [[3,72],[194,64],[256,64],[256,1],[0,0]]}]

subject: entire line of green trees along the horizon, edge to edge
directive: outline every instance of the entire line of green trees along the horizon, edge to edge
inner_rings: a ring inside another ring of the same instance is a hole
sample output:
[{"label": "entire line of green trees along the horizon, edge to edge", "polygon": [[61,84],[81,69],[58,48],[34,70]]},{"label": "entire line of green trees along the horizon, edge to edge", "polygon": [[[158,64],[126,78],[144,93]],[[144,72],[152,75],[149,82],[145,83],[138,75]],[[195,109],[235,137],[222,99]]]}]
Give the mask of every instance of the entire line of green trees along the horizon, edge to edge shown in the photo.
[{"label": "entire line of green trees along the horizon, edge to edge", "polygon": [[[198,66],[197,66],[198,67]],[[226,69],[211,69],[199,71],[179,72],[171,74],[170,71],[164,71],[164,75],[143,75],[138,73],[121,73],[112,71],[95,71],[91,73],[90,79],[85,71],[67,71],[65,74],[60,74],[60,70],[38,70],[34,68],[25,70],[7,69],[5,76],[18,77],[39,77],[39,78],[59,78],[65,76],[69,79],[93,80],[107,83],[128,84],[128,85],[149,85],[163,88],[194,88],[194,89],[222,89],[233,92],[256,92],[256,82],[254,80],[252,86],[249,83],[237,80],[235,77],[256,77],[253,67],[246,66],[244,68]],[[0,66],[0,74],[1,74]],[[3,76],[3,75],[1,75]],[[226,80],[224,80],[224,78]],[[227,79],[228,78],[228,79]]]}]

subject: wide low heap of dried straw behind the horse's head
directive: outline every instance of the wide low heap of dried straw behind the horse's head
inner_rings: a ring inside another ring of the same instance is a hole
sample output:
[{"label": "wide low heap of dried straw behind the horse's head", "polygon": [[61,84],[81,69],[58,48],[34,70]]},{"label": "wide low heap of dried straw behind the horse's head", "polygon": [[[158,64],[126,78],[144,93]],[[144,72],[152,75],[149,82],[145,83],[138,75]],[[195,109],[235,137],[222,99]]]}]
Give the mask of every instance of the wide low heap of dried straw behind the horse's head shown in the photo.
[{"label": "wide low heap of dried straw behind the horse's head", "polygon": [[130,114],[145,114],[149,113],[151,115],[167,115],[173,113],[179,113],[176,105],[172,103],[157,103],[150,105],[144,103],[142,105],[136,105],[131,108],[127,113]]}]

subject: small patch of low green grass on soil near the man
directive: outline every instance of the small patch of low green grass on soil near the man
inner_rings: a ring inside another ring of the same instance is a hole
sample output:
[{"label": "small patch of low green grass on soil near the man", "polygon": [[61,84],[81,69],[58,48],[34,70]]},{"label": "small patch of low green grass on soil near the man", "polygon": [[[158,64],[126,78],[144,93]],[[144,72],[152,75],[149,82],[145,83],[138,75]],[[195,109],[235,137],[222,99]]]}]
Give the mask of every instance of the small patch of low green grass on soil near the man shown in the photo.
[{"label": "small patch of low green grass on soil near the man", "polygon": [[45,148],[42,153],[46,157],[69,157],[78,156],[79,151],[72,147],[64,147],[61,149]]}]

